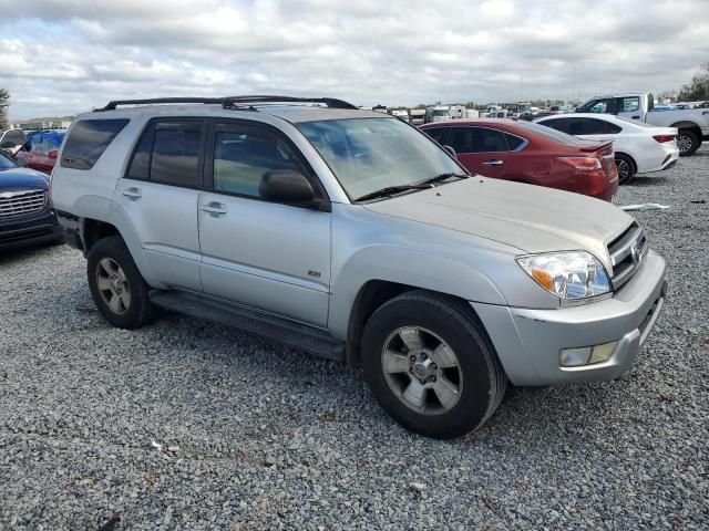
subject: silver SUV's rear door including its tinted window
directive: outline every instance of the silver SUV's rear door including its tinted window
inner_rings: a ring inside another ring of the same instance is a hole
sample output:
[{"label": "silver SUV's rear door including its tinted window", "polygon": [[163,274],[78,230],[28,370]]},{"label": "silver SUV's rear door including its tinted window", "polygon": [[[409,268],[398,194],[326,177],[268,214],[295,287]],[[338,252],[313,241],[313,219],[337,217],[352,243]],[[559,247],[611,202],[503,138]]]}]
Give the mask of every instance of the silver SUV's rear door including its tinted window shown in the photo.
[{"label": "silver SUV's rear door including its tinted window", "polygon": [[197,199],[205,140],[204,119],[150,122],[114,194],[157,278],[194,291],[202,290]]}]

